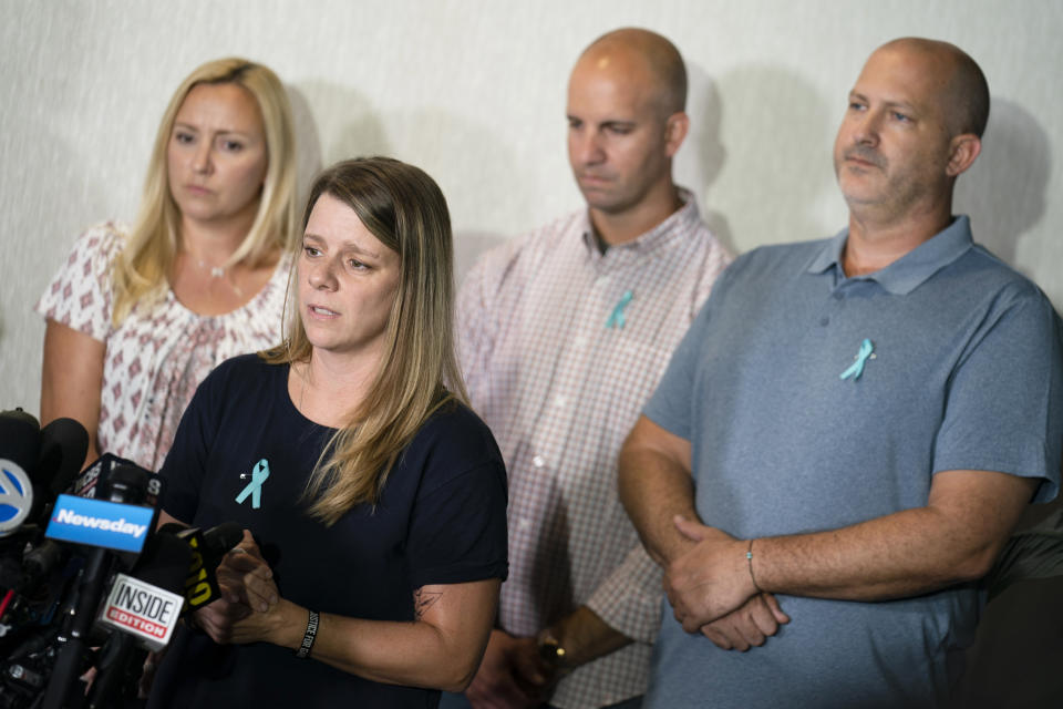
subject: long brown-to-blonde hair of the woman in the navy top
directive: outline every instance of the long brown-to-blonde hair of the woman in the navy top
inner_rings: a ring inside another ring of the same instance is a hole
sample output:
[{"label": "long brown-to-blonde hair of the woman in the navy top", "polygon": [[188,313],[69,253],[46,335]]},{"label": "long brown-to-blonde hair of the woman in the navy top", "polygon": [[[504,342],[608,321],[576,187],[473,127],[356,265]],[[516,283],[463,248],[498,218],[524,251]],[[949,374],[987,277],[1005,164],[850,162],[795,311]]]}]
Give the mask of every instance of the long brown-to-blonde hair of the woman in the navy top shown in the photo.
[{"label": "long brown-to-blonde hair of the woman in the navy top", "polygon": [[[324,194],[349,206],[401,263],[380,370],[307,484],[311,514],[331,525],[354,505],[375,504],[429,417],[467,397],[454,353],[451,217],[438,186],[420,168],[390,157],[344,161],[314,181],[303,227]],[[313,347],[299,308],[292,310],[285,342],[261,353],[270,363],[310,360]]]}]

